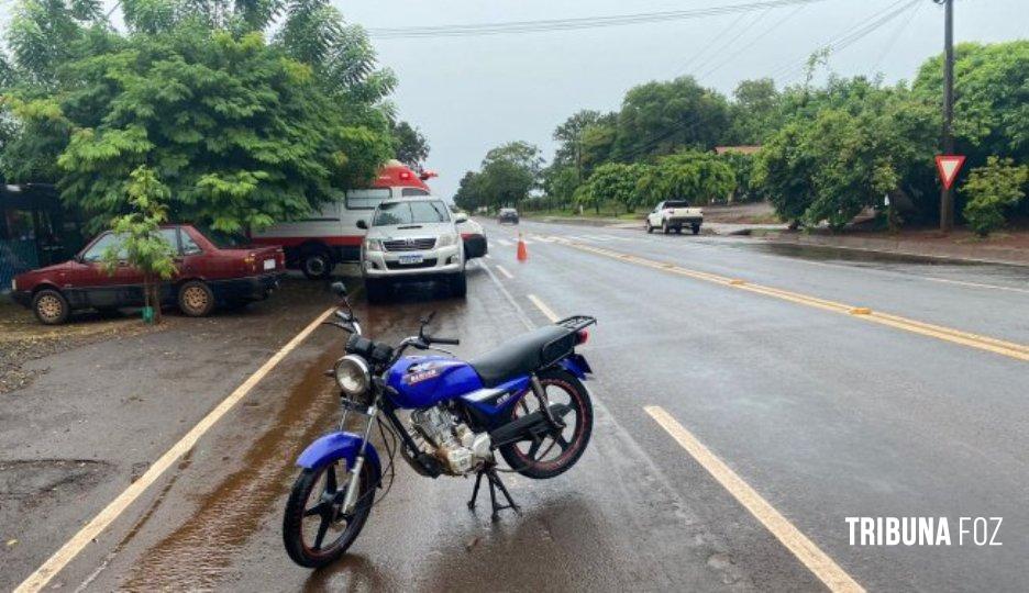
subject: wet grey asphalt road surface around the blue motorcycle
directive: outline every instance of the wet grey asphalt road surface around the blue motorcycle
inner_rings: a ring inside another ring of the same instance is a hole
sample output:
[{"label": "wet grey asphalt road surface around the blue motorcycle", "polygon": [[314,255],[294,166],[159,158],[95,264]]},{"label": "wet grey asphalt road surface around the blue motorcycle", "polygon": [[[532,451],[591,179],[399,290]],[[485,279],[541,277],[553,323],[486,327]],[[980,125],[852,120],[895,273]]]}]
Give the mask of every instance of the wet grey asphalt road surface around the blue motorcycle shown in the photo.
[{"label": "wet grey asphalt road surface around the blue motorcycle", "polygon": [[[279,535],[291,463],[335,421],[321,371],[342,345],[325,327],[54,583],[87,591],[821,589],[643,413],[654,404],[870,590],[1025,589],[1025,361],[546,239],[574,236],[1021,344],[1029,343],[1029,270],[784,253],[642,231],[521,230],[530,234],[525,264],[514,261],[513,230],[487,225],[491,257],[471,269],[466,301],[414,290],[389,305],[362,303],[358,314],[368,335],[398,339],[434,309],[438,333],[461,336],[466,356],[545,323],[529,294],[561,315],[600,320],[584,348],[597,371],[590,448],[555,480],[508,479],[524,516],[490,524],[484,510],[464,506],[471,481],[429,480],[400,466],[345,560],[313,573],[292,566]],[[206,333],[180,325],[40,361],[49,372],[0,411],[0,477],[3,492],[18,494],[3,499],[0,535],[20,540],[0,551],[0,589],[16,585],[330,303],[323,287],[302,283],[276,296],[240,317],[212,320]],[[852,547],[843,517],[854,515],[1003,516],[1004,546]]]}]

